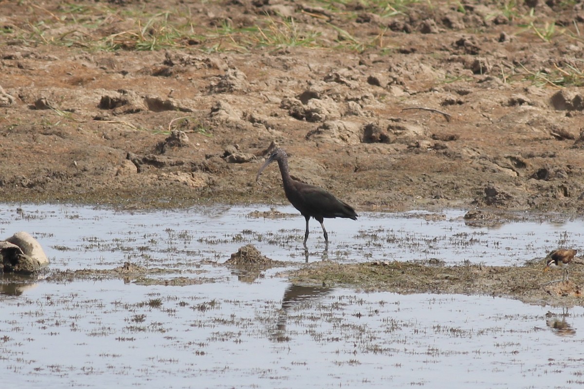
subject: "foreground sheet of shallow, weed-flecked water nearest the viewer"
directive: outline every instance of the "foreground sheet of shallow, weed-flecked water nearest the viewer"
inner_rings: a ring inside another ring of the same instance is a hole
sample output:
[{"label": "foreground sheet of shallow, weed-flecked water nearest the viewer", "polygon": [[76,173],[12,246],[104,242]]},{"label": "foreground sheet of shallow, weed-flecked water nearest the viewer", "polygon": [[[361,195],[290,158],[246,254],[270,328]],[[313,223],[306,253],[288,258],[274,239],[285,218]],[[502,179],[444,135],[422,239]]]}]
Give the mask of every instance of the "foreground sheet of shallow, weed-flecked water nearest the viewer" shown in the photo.
[{"label": "foreground sheet of shallow, weed-flecked water nearest the viewer", "polygon": [[[581,308],[562,317],[561,309],[500,298],[339,289],[305,294],[282,313],[286,288],[279,279],[39,286],[2,304],[3,381],[173,388],[520,388],[583,381]],[[570,328],[548,327],[548,311]]]}]

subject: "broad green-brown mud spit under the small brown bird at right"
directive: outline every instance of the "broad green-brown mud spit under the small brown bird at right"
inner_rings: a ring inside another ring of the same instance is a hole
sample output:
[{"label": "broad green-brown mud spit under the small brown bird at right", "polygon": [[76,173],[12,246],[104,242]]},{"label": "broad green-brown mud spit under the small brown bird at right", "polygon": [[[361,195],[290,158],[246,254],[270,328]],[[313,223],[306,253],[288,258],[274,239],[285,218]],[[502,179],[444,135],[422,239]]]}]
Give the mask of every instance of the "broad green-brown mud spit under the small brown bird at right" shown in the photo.
[{"label": "broad green-brown mud spit under the small brown bird at right", "polygon": [[[515,298],[529,304],[584,305],[578,281],[546,284],[558,279],[560,273],[550,275],[548,272],[544,275],[541,263],[525,266],[444,266],[408,262],[354,265],[323,262],[293,270],[287,275],[293,283],[345,286],[361,291],[477,294]],[[579,268],[575,274],[576,279],[582,276]]]}]

